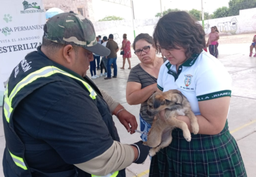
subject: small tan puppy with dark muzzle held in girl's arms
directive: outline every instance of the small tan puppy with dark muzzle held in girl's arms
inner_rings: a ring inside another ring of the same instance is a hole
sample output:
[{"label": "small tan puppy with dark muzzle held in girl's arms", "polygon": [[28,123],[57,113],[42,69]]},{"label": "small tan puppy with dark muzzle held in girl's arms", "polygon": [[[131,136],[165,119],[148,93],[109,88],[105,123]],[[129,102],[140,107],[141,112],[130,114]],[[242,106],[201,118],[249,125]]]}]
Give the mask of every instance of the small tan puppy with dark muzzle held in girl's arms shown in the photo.
[{"label": "small tan puppy with dark muzzle held in girl's arms", "polygon": [[[165,109],[165,120],[160,118],[159,112]],[[197,117],[191,111],[189,101],[179,90],[168,90],[167,92],[155,92],[148,99],[148,115],[155,115],[152,128],[148,132],[148,141],[145,145],[152,147],[150,156],[155,156],[161,148],[165,148],[172,142],[172,129],[180,128],[187,141],[191,141],[191,133],[187,124],[176,119],[178,115],[188,116],[194,134],[199,132]]]}]

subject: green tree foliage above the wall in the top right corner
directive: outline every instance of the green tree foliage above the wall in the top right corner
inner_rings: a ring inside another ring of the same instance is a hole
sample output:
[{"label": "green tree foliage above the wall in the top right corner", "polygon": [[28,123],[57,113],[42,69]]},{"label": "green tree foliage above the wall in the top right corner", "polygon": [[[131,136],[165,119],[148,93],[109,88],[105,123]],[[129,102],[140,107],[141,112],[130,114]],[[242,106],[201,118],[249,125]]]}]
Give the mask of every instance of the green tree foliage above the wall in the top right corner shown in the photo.
[{"label": "green tree foliage above the wall in the top right corner", "polygon": [[229,1],[229,16],[238,16],[239,10],[255,7],[256,0],[231,0]]}]

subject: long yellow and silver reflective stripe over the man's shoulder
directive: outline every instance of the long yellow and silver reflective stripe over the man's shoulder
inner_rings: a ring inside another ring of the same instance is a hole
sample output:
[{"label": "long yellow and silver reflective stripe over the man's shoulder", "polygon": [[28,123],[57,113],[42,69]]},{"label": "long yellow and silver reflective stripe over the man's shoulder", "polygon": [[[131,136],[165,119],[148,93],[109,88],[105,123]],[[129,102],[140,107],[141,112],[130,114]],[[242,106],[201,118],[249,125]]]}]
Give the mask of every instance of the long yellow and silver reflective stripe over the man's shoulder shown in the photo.
[{"label": "long yellow and silver reflective stripe over the man's shoulder", "polygon": [[75,77],[74,75],[71,75],[63,70],[60,70],[59,68],[56,68],[55,66],[46,66],[44,68],[41,68],[40,70],[37,70],[29,75],[27,75],[22,81],[20,81],[12,90],[10,93],[10,96],[8,96],[8,84],[5,89],[5,105],[4,105],[4,113],[5,113],[5,118],[7,119],[7,122],[10,121],[10,114],[12,113],[12,99],[14,96],[20,91],[23,87],[28,85],[29,83],[32,83],[36,79],[39,79],[40,77],[49,77],[52,74],[63,74],[67,75],[69,77],[72,77],[73,79],[77,79],[78,81],[81,81],[84,86],[89,90],[90,92],[90,97],[95,100],[96,99],[96,92],[91,88],[88,83],[83,81],[82,79],[79,79],[78,77]]}]

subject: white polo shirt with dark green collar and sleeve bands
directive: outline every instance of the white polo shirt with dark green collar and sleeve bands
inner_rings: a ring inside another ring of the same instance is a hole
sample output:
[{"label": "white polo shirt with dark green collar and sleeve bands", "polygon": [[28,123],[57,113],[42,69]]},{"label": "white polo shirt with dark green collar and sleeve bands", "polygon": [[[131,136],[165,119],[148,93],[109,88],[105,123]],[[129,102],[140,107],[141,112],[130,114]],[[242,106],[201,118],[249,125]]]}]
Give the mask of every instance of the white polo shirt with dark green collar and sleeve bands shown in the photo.
[{"label": "white polo shirt with dark green collar and sleeve bands", "polygon": [[157,87],[166,92],[177,89],[187,97],[195,115],[200,115],[198,102],[231,96],[232,79],[216,57],[202,51],[180,65],[166,61],[160,68]]}]

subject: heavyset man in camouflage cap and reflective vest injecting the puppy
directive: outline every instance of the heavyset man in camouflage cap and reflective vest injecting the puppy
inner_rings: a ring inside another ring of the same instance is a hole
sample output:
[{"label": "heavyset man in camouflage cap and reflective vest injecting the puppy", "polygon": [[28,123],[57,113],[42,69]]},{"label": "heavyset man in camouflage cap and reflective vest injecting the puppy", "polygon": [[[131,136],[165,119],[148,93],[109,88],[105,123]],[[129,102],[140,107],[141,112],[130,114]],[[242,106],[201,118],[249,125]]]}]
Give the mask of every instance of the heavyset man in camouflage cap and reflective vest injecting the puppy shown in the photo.
[{"label": "heavyset man in camouflage cap and reflective vest injecting the puppy", "polygon": [[146,159],[142,141],[120,143],[112,115],[131,133],[136,119],[86,76],[92,53],[109,50],[83,16],[57,14],[44,25],[42,46],[6,86],[5,176],[125,176],[125,167]]}]

